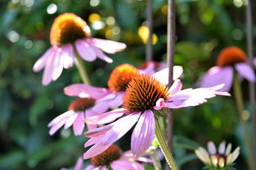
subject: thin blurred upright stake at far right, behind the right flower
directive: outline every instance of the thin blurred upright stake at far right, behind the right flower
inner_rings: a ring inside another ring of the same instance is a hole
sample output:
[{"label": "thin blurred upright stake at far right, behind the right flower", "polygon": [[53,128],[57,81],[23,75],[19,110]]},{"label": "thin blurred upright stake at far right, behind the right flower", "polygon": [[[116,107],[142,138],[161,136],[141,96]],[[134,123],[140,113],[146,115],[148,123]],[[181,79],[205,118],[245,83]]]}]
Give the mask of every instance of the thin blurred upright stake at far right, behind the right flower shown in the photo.
[{"label": "thin blurred upright stake at far right, behind the right flower", "polygon": [[[247,0],[246,5],[246,29],[247,29],[247,55],[249,57],[249,63],[254,66],[254,40],[253,40],[253,19],[252,19],[252,1]],[[250,113],[252,115],[252,147],[253,155],[256,158],[256,113],[255,113],[255,83],[249,83],[249,104],[250,104]],[[254,169],[256,165],[254,163]]]}]

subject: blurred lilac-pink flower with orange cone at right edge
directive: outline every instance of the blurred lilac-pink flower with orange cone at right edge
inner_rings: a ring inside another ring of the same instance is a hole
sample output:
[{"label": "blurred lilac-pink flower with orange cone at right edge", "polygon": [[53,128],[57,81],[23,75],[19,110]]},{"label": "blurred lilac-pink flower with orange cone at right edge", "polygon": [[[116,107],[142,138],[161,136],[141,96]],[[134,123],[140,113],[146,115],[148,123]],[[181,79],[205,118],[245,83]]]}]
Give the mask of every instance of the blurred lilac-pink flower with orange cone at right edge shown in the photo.
[{"label": "blurred lilac-pink flower with orange cone at right edge", "polygon": [[242,78],[250,82],[255,81],[254,70],[247,63],[245,52],[238,47],[226,47],[218,56],[217,66],[209,69],[200,78],[200,87],[211,87],[224,83],[225,86],[220,91],[229,92],[233,82],[233,68]]}]

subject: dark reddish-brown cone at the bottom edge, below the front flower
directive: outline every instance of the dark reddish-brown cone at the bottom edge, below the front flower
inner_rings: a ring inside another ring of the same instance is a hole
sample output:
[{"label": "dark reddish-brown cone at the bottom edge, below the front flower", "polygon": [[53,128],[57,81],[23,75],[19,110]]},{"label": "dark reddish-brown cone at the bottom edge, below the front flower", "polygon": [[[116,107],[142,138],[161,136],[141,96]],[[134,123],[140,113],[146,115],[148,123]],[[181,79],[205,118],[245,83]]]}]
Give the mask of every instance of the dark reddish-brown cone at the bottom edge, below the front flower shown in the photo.
[{"label": "dark reddish-brown cone at the bottom edge, below the front flower", "polygon": [[120,150],[119,146],[117,145],[110,145],[110,147],[98,154],[95,157],[92,157],[91,163],[94,166],[106,166],[112,163],[113,161],[119,159],[121,157],[122,150]]}]

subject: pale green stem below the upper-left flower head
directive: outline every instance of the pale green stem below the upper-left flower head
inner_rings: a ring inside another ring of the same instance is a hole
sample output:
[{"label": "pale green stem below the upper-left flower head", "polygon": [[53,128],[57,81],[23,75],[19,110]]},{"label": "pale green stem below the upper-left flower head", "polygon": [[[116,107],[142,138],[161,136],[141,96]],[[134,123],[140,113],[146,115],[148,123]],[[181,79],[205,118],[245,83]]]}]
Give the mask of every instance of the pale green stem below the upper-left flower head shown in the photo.
[{"label": "pale green stem below the upper-left flower head", "polygon": [[77,52],[74,52],[75,53],[75,65],[76,67],[79,69],[79,74],[83,80],[83,83],[85,84],[91,84],[90,83],[90,80],[88,78],[88,74],[87,74],[87,71],[86,69],[84,68],[84,65],[83,65],[83,60],[81,59],[81,57],[79,56],[79,54]]}]

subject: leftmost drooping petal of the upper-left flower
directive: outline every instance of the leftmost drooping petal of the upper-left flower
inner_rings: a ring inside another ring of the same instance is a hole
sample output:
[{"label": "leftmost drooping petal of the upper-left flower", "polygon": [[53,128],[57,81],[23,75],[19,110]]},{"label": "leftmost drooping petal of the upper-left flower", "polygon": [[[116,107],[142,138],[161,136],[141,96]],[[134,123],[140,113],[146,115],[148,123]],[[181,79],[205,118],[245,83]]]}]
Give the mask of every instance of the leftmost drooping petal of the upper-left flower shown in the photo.
[{"label": "leftmost drooping petal of the upper-left flower", "polygon": [[38,72],[40,71],[41,69],[43,69],[43,67],[45,66],[48,58],[52,57],[54,55],[54,47],[50,47],[44,54],[43,56],[41,56],[34,64],[33,66],[33,70],[34,72]]}]

